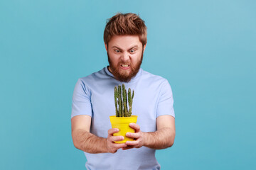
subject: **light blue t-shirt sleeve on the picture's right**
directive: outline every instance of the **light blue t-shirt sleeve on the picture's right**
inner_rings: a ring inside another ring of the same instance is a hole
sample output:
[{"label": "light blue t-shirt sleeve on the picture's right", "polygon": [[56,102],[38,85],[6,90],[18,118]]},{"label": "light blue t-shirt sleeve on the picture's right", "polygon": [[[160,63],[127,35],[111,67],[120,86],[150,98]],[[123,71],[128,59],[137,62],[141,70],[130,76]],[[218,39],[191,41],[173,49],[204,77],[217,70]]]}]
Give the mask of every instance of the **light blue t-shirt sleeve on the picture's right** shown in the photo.
[{"label": "light blue t-shirt sleeve on the picture's right", "polygon": [[171,86],[167,80],[165,80],[161,86],[156,118],[159,117],[159,115],[172,115],[175,118],[174,98]]}]

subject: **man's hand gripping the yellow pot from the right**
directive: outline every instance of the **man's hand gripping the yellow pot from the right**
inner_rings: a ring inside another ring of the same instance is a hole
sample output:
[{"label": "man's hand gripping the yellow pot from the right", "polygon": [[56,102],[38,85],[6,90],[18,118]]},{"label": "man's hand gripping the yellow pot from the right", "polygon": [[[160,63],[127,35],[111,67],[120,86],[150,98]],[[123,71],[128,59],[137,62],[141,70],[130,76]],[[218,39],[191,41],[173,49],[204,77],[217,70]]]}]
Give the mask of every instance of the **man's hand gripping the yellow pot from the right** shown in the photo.
[{"label": "man's hand gripping the yellow pot from the right", "polygon": [[132,132],[127,132],[126,136],[127,137],[132,137],[135,138],[135,141],[127,141],[127,147],[122,148],[123,150],[126,149],[132,149],[132,148],[139,148],[142,147],[144,145],[144,132],[142,132],[140,130],[139,125],[137,125],[136,123],[130,123],[129,127],[133,128],[135,130],[134,133]]}]

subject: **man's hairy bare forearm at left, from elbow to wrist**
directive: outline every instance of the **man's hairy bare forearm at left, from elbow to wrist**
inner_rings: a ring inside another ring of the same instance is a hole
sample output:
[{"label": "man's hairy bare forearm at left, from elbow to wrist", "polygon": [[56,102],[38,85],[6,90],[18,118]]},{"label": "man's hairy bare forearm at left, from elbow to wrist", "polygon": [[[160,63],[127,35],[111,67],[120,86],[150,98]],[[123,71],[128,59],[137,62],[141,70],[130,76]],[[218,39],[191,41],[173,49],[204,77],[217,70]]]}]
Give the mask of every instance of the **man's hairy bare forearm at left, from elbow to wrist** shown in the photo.
[{"label": "man's hairy bare forearm at left, from elbow to wrist", "polygon": [[72,136],[75,147],[84,152],[92,154],[107,152],[106,138],[97,137],[85,130],[76,130]]}]

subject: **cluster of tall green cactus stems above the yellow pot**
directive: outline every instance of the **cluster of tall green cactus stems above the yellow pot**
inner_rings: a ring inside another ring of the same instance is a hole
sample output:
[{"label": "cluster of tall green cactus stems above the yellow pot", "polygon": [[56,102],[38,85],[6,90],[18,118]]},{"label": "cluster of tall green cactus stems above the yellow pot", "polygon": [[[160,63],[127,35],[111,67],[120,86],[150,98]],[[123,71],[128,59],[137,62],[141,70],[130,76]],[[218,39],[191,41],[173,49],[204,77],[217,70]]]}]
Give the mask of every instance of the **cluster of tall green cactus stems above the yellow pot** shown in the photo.
[{"label": "cluster of tall green cactus stems above the yellow pot", "polygon": [[[114,106],[117,117],[130,117],[132,115],[132,101],[134,98],[134,91],[128,89],[128,100],[127,100],[127,90],[124,84],[114,86]],[[127,107],[127,101],[129,103],[129,111]],[[118,107],[117,107],[118,104]]]}]

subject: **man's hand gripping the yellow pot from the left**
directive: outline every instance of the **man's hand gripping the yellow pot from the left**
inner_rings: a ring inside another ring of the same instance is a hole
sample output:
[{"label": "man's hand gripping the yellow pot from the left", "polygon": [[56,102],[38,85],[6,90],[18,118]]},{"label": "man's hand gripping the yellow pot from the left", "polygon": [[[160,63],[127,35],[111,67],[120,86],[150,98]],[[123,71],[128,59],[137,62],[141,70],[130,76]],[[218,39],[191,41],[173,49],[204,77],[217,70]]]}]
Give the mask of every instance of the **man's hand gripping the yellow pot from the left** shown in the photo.
[{"label": "man's hand gripping the yellow pot from the left", "polygon": [[108,130],[108,136],[107,136],[107,151],[114,154],[117,152],[118,149],[127,147],[125,143],[117,144],[114,143],[114,141],[121,141],[124,140],[123,136],[113,136],[113,133],[119,132],[119,129],[112,128]]}]

